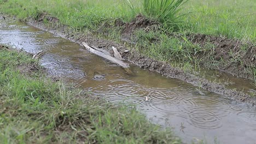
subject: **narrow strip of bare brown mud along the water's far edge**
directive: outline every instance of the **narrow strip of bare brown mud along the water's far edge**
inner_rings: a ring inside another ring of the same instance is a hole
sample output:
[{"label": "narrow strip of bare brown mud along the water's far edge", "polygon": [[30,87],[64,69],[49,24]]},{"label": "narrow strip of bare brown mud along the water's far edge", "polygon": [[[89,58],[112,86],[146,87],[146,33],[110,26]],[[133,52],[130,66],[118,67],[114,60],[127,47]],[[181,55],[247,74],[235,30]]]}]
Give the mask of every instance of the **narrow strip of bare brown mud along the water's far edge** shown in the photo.
[{"label": "narrow strip of bare brown mud along the water's far edge", "polygon": [[199,86],[210,92],[224,94],[234,103],[246,104],[248,107],[255,109],[255,104],[256,104],[255,98],[252,98],[245,93],[237,92],[232,89],[227,89],[222,84],[213,83],[206,79],[197,77],[195,75],[184,73],[183,70],[173,68],[171,67],[170,64],[166,62],[156,61],[152,58],[143,56],[134,50],[131,50],[130,52],[124,52],[125,50],[127,50],[127,47],[125,46],[125,44],[118,44],[112,40],[97,38],[94,35],[85,31],[74,31],[73,29],[67,26],[60,25],[58,21],[51,22],[50,21],[51,19],[48,19],[48,20],[50,22],[50,25],[45,25],[43,21],[34,21],[32,19],[27,20],[26,22],[32,26],[38,27],[40,29],[44,29],[45,31],[49,31],[51,33],[60,35],[63,38],[70,39],[77,43],[82,43],[82,41],[84,41],[85,43],[94,45],[96,47],[100,47],[102,49],[106,49],[110,52],[112,52],[112,49],[110,49],[111,46],[115,46],[120,51],[123,58],[125,58],[127,61],[130,61],[131,63],[138,65],[141,68],[150,69],[164,76],[176,78],[185,82],[192,83],[193,85]]}]

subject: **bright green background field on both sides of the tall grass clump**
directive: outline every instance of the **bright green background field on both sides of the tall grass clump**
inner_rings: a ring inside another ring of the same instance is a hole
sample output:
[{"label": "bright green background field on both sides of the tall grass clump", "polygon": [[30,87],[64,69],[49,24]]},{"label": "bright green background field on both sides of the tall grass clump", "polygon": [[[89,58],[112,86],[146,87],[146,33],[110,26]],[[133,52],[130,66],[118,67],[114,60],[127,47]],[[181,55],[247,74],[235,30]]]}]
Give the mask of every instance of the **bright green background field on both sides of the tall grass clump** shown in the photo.
[{"label": "bright green background field on both sides of the tall grass clump", "polygon": [[[2,2],[1,2],[2,1]],[[65,25],[96,30],[102,23],[115,19],[130,21],[138,13],[145,13],[141,1],[130,0],[133,9],[123,0],[1,0],[1,11],[24,19],[46,11]],[[4,4],[3,4],[4,3]],[[18,6],[18,7],[17,7]],[[256,40],[256,3],[253,0],[195,1],[181,5],[182,32],[223,35],[228,38]],[[145,14],[147,15],[147,14]]]}]

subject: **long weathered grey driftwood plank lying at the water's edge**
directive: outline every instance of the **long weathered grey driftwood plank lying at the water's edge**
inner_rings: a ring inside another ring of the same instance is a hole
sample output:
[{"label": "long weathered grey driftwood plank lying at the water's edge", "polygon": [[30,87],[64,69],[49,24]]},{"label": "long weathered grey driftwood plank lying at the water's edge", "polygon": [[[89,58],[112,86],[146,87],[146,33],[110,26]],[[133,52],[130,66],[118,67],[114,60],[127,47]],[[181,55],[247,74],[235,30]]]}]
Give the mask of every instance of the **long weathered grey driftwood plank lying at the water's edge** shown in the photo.
[{"label": "long weathered grey driftwood plank lying at the water's edge", "polygon": [[82,45],[87,49],[89,50],[90,52],[94,53],[95,55],[98,55],[98,56],[101,56],[103,58],[106,58],[108,59],[109,61],[113,62],[113,63],[117,63],[119,64],[121,67],[124,67],[124,68],[129,68],[129,64],[123,62],[123,61],[120,61],[119,59],[117,58],[114,58],[112,56],[109,56],[109,55],[106,55],[106,53],[104,52],[101,52],[101,51],[98,51],[96,49],[93,49],[91,46],[89,46],[88,44],[82,42]]}]

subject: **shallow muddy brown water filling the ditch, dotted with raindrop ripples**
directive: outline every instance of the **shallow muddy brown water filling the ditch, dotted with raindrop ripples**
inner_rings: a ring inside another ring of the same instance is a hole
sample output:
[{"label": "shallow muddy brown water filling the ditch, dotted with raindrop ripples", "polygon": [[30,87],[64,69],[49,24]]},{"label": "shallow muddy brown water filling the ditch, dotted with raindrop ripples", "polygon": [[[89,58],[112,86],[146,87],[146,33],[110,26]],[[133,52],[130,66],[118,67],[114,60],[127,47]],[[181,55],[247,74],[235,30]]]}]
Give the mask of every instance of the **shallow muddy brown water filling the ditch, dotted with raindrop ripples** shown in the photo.
[{"label": "shallow muddy brown water filling the ditch, dotted with raindrop ripples", "polygon": [[0,20],[0,43],[32,53],[44,50],[41,62],[49,73],[112,103],[135,104],[153,123],[173,128],[184,142],[256,143],[256,111],[224,95],[134,66],[135,75],[126,74],[78,44],[21,22]]}]

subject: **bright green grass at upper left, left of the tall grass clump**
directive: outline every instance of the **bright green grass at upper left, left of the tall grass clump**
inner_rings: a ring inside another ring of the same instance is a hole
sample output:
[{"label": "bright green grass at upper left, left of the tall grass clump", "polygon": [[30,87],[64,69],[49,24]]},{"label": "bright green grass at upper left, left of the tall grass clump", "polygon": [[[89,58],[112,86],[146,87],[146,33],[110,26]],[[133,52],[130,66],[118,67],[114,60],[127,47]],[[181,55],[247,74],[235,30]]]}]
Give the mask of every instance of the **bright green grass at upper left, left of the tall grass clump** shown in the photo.
[{"label": "bright green grass at upper left, left of the tall grass clump", "polygon": [[36,17],[38,13],[46,11],[58,17],[65,25],[77,29],[89,28],[94,31],[106,21],[112,21],[118,17],[129,21],[136,15],[131,13],[129,6],[123,0],[110,0],[108,3],[84,0],[36,0],[33,2],[11,0],[2,4],[0,9],[5,13],[16,15],[20,19],[29,16]]}]

